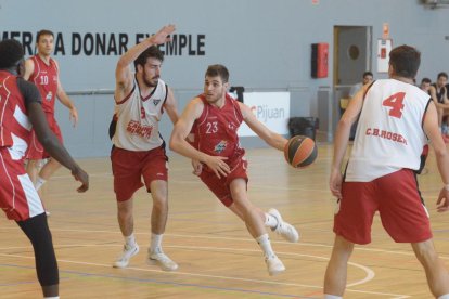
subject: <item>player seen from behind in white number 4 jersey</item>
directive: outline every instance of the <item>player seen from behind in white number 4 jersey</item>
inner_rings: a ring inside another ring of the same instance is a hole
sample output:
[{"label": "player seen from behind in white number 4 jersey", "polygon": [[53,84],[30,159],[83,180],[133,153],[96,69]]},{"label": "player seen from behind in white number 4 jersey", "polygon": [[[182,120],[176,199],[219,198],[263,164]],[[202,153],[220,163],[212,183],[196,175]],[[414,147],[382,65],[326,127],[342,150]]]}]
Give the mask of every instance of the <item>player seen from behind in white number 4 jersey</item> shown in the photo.
[{"label": "player seen from behind in white number 4 jersey", "polygon": [[[438,130],[435,103],[413,84],[421,53],[409,46],[389,54],[389,79],[365,86],[350,102],[335,135],[330,188],[337,197],[335,243],[324,278],[324,298],[342,298],[354,244],[371,242],[373,216],[397,243],[410,243],[432,294],[449,299],[449,274],[434,248],[428,213],[418,187],[420,156],[434,147],[444,182],[437,210],[449,209],[449,154]],[[360,114],[346,173],[342,162],[349,130]]]}]

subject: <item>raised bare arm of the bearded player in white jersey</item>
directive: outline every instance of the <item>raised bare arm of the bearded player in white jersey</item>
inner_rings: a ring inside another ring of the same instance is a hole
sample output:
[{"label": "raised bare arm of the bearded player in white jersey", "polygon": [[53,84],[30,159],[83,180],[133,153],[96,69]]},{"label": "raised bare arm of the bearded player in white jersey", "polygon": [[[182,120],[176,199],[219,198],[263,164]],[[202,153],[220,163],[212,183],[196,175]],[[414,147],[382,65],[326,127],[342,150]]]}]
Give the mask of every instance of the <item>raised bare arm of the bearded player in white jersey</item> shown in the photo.
[{"label": "raised bare arm of the bearded player in white jersey", "polygon": [[172,34],[175,29],[175,25],[171,24],[164,26],[157,31],[157,34],[131,47],[120,56],[115,68],[115,101],[121,101],[132,89],[132,73],[129,65],[151,46],[169,41],[169,35]]}]

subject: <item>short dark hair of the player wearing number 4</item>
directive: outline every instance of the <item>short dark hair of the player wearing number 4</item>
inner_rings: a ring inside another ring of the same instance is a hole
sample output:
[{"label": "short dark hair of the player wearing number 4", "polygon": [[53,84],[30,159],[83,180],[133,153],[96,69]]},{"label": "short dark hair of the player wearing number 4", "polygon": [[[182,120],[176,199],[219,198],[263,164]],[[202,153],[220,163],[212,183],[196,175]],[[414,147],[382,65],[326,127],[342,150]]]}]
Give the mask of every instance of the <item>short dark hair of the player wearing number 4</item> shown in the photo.
[{"label": "short dark hair of the player wearing number 4", "polygon": [[396,47],[389,52],[389,64],[397,76],[413,79],[420,68],[421,52],[407,44]]}]

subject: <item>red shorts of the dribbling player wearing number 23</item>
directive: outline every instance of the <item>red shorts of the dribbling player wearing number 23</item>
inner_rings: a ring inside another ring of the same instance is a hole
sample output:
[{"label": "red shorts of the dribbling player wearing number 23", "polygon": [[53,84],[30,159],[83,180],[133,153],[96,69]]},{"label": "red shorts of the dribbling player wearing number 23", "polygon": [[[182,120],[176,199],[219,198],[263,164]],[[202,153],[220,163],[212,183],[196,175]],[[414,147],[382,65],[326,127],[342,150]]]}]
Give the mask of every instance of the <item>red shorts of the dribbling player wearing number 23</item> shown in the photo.
[{"label": "red shorts of the dribbling player wearing number 23", "polygon": [[228,177],[218,179],[218,177],[214,172],[210,172],[210,170],[203,169],[200,179],[224,206],[229,207],[234,202],[229,186],[235,179],[244,179],[246,183],[248,182],[248,176],[246,173],[248,161],[245,157],[240,157],[231,162],[227,160],[227,162],[231,167],[231,173],[229,173]]}]

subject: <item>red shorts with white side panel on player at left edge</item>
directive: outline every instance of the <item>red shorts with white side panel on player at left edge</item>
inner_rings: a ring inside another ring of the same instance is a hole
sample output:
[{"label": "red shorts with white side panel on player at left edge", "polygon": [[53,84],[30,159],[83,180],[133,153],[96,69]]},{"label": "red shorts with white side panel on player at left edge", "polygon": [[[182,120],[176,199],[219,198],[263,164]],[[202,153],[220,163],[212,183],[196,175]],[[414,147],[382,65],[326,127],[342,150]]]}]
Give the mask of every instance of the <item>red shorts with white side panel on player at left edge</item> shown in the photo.
[{"label": "red shorts with white side panel on player at left edge", "polygon": [[9,151],[0,147],[0,207],[8,219],[24,221],[43,213],[44,209],[23,160],[12,159]]}]

